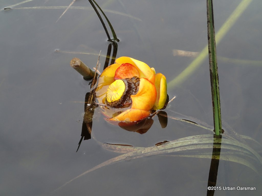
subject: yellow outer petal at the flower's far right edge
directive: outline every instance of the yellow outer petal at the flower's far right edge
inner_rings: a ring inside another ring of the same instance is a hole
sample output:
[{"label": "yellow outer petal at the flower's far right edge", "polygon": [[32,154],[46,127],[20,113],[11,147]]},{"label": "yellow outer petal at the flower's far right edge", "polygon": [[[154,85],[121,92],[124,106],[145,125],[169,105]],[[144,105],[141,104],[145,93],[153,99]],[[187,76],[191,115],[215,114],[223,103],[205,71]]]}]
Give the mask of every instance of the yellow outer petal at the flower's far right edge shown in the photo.
[{"label": "yellow outer petal at the flower's far right edge", "polygon": [[166,77],[162,73],[155,75],[155,87],[156,87],[156,103],[153,109],[162,109],[166,103],[167,98],[167,84]]}]

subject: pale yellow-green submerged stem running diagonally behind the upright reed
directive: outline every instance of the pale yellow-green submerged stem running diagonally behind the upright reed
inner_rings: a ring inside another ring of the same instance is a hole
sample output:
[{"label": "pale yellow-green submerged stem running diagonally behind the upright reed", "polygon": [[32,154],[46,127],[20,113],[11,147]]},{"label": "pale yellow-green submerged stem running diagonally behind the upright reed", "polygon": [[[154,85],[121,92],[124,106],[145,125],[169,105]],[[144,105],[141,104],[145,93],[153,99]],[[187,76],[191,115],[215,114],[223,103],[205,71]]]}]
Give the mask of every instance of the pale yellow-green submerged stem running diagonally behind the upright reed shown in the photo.
[{"label": "pale yellow-green submerged stem running diagonally behind the upright reed", "polygon": [[[241,14],[245,11],[245,9],[248,7],[248,5],[253,0],[242,0],[239,5],[236,7],[236,9],[232,12],[232,14],[227,18],[225,23],[220,27],[219,31],[216,33],[216,43],[219,44],[221,39],[225,36],[225,34],[231,29],[231,27],[235,24],[237,19],[241,16]],[[199,54],[198,57],[196,57],[187,68],[185,68],[177,77],[175,77],[173,80],[168,82],[167,87],[168,89],[174,88],[176,85],[179,85],[183,83],[185,80],[191,76],[196,69],[199,68],[201,63],[204,61],[204,59],[208,55],[208,46],[206,46]]]}]

